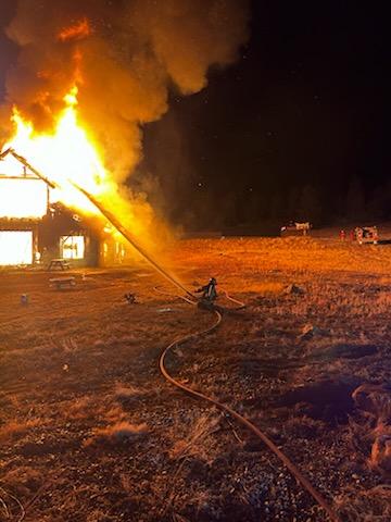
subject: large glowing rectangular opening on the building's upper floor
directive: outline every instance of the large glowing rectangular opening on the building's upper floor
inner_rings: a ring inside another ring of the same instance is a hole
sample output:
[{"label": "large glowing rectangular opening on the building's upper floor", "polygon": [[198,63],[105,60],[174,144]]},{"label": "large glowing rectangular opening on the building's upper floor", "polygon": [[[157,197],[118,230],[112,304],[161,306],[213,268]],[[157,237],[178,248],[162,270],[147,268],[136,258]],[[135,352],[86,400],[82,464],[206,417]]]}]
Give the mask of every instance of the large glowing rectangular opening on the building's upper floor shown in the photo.
[{"label": "large glowing rectangular opening on the building's upper floor", "polygon": [[42,217],[47,213],[47,185],[40,179],[3,179],[0,175],[0,217]]}]

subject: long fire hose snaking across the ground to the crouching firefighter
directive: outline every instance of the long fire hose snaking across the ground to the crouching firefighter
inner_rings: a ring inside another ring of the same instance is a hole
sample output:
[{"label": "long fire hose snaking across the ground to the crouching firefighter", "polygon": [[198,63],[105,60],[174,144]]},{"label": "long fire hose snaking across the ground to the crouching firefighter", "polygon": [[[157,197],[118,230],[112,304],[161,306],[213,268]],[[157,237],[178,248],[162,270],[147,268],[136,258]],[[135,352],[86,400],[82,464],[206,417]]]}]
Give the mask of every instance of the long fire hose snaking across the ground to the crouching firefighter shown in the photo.
[{"label": "long fire hose snaking across the ground to the crouching firefighter", "polygon": [[[159,291],[160,294],[165,294],[162,290],[159,290],[159,288],[154,288],[155,291]],[[182,296],[173,296],[171,294],[166,294],[172,297],[177,297],[179,299],[185,300],[186,302],[189,302],[191,304],[197,304],[197,302],[190,301],[188,298],[184,298]],[[228,309],[228,310],[241,310],[244,308],[244,303],[231,298],[227,293],[225,293],[225,296],[227,299],[229,299],[232,302],[236,302],[238,304],[238,308],[235,309]],[[163,376],[171,384],[176,386],[177,388],[181,389],[186,394],[197,397],[198,399],[201,399],[203,401],[206,401],[216,408],[218,408],[220,411],[227,413],[229,417],[232,419],[236,419],[240,424],[244,425],[248,427],[251,432],[253,432],[256,437],[258,437],[277,457],[278,459],[283,463],[283,465],[291,472],[291,474],[297,478],[297,481],[302,485],[304,489],[306,489],[307,493],[316,500],[316,502],[326,511],[328,514],[329,519],[332,522],[341,522],[341,519],[339,515],[336,513],[336,511],[332,509],[332,507],[328,504],[328,501],[324,498],[324,496],[315,489],[315,487],[311,484],[311,482],[302,474],[302,472],[299,470],[299,468],[276,446],[276,444],[264,433],[262,432],[258,427],[256,427],[251,421],[249,421],[245,417],[241,415],[237,411],[235,411],[232,408],[229,406],[224,405],[223,402],[219,402],[218,400],[209,397],[201,391],[197,391],[195,389],[192,389],[189,386],[186,386],[185,384],[180,383],[176,378],[174,378],[167,371],[165,361],[168,352],[175,347],[182,345],[184,343],[194,339],[197,337],[206,335],[215,331],[219,324],[222,323],[223,315],[222,311],[217,309],[213,309],[213,313],[216,318],[215,322],[209,326],[205,330],[193,332],[187,335],[184,335],[182,337],[179,337],[175,340],[173,340],[168,346],[166,346],[161,353],[160,360],[159,360],[159,368]]]}]

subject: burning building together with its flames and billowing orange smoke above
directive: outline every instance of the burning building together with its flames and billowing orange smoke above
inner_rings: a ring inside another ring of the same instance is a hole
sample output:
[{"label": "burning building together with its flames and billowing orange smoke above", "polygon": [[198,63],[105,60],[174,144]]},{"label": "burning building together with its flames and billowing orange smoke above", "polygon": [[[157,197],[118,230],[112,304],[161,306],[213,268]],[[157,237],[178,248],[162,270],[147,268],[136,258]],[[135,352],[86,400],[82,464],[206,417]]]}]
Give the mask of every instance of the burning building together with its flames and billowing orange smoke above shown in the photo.
[{"label": "burning building together with its flames and billowing orange smoke above", "polygon": [[171,90],[198,92],[211,66],[236,60],[248,3],[15,2],[7,35],[18,54],[0,138],[37,171],[17,161],[5,169],[12,154],[0,163],[0,264],[30,264],[48,251],[116,262],[126,254],[119,235],[148,259],[166,228],[126,183],[141,158],[142,126],[167,111]]}]

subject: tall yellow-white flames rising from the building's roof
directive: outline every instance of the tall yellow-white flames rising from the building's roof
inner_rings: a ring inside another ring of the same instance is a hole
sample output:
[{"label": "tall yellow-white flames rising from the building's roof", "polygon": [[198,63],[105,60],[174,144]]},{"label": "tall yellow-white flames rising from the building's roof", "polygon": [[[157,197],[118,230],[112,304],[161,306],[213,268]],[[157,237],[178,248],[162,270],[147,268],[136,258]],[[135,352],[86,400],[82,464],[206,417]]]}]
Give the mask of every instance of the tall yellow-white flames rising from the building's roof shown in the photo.
[{"label": "tall yellow-white flames rising from the building's roof", "polygon": [[[83,212],[96,213],[97,209],[75,189],[72,182],[98,197],[108,196],[115,186],[103,166],[98,148],[78,121],[77,87],[64,97],[64,109],[59,114],[54,133],[36,134],[31,123],[25,121],[16,108],[12,121],[15,133],[4,149],[11,147],[54,182],[58,188],[52,190],[51,201],[62,201]],[[15,169],[20,171],[21,165],[9,162],[2,171],[17,175]],[[11,179],[2,179],[4,189],[7,182],[11,184]],[[26,201],[18,192],[14,192],[12,206],[14,216],[26,216]]]}]

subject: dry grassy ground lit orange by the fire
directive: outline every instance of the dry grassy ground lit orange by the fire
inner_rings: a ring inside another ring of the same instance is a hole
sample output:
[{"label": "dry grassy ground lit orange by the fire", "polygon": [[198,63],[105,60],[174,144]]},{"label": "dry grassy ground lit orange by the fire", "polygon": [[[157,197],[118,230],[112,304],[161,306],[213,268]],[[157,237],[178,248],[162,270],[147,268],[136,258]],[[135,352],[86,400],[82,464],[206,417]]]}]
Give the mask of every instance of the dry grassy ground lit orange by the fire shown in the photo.
[{"label": "dry grassy ground lit orange by the fire", "polygon": [[[189,289],[213,275],[247,308],[169,372],[252,420],[341,521],[390,521],[391,245],[191,239],[171,259]],[[1,521],[328,520],[261,442],[160,374],[211,313],[156,294],[176,290],[144,264],[73,275],[55,290],[43,270],[0,272]],[[353,400],[365,383],[381,411]]]}]

